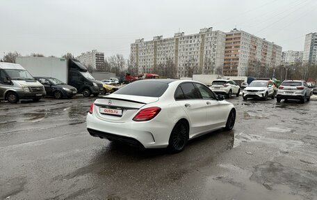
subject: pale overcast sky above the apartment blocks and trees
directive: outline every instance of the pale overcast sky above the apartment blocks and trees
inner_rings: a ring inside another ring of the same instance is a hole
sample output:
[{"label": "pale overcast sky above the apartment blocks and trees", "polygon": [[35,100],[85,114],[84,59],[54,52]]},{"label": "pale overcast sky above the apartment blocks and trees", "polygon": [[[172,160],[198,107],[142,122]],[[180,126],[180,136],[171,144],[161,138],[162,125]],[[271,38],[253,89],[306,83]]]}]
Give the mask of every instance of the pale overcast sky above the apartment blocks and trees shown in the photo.
[{"label": "pale overcast sky above the apartment blocks and trees", "polygon": [[316,0],[0,0],[0,57],[13,51],[78,56],[97,49],[128,58],[138,38],[169,38],[206,27],[236,27],[283,51],[302,51],[304,36],[317,32],[316,10]]}]

